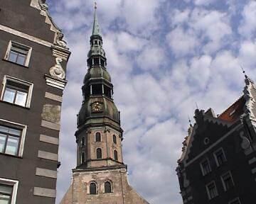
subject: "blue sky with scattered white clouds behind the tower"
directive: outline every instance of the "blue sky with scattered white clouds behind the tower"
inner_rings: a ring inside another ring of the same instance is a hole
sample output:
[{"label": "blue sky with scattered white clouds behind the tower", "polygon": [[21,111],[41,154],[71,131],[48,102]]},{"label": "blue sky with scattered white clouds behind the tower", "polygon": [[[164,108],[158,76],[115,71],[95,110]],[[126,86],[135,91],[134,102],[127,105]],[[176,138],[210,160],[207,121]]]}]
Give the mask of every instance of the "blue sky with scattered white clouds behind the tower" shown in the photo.
[{"label": "blue sky with scattered white clouds behind the tower", "polygon": [[[63,96],[59,203],[76,166],[76,115],[92,33],[92,0],[48,0],[72,55]],[[98,21],[121,111],[129,183],[151,204],[181,204],[177,159],[188,117],[222,113],[256,80],[256,1],[98,0]]]}]

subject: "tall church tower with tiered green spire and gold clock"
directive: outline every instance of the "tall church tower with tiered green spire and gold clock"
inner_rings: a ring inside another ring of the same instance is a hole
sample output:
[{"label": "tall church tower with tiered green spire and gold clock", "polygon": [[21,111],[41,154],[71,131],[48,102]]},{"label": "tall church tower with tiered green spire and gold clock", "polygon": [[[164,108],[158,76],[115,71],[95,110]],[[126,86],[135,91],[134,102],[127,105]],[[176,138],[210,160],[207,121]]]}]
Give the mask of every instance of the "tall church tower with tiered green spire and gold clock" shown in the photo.
[{"label": "tall church tower with tiered green spire and gold clock", "polygon": [[77,166],[61,204],[147,203],[127,181],[127,166],[122,158],[120,113],[112,97],[113,85],[102,44],[95,5],[88,69],[75,132]]}]

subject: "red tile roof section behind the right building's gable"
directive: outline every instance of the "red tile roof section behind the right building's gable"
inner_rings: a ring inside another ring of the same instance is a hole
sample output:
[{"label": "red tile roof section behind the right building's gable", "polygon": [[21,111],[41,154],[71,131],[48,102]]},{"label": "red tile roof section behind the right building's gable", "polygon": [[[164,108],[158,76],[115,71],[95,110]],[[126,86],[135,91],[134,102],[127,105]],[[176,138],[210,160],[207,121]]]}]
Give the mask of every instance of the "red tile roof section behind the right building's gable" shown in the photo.
[{"label": "red tile roof section behind the right building's gable", "polygon": [[242,113],[244,113],[245,106],[245,98],[242,96],[235,101],[228,109],[226,109],[223,113],[221,113],[218,118],[221,120],[227,120],[229,122],[233,122],[237,120]]}]

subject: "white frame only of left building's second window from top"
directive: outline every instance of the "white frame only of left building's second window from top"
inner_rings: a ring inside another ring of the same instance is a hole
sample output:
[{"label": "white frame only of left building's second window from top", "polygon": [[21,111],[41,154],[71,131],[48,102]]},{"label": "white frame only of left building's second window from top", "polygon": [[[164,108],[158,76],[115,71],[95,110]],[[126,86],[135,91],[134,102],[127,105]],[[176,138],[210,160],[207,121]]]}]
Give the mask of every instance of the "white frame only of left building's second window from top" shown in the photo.
[{"label": "white frame only of left building's second window from top", "polygon": [[[5,92],[5,89],[6,89],[6,82],[7,81],[14,81],[17,84],[22,84],[22,85],[28,86],[28,96],[26,98],[26,104],[25,104],[25,106],[21,106],[21,107],[30,108],[31,98],[32,98],[32,93],[33,93],[33,84],[31,82],[24,81],[24,80],[18,79],[16,77],[10,77],[8,75],[4,75],[3,88],[2,88],[2,91],[1,91],[1,101],[4,101],[4,92]],[[20,106],[16,103],[10,103],[10,104]]]}]

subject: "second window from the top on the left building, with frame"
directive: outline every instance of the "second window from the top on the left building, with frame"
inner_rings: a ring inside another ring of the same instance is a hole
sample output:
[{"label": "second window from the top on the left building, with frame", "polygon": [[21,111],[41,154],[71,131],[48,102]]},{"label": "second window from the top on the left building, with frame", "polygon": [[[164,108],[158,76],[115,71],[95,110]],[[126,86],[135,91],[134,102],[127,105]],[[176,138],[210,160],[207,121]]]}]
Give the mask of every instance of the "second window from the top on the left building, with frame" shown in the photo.
[{"label": "second window from the top on the left building, with frame", "polygon": [[26,108],[30,107],[33,84],[8,76],[4,77],[3,84],[2,101]]}]

